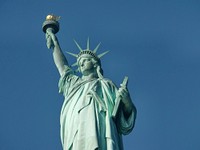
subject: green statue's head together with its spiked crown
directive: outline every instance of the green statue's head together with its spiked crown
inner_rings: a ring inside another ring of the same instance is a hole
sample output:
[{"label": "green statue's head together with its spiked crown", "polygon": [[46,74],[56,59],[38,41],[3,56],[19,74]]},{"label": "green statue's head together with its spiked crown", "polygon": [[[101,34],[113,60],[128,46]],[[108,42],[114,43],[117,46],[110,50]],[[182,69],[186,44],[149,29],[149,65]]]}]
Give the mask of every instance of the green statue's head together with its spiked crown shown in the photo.
[{"label": "green statue's head together with its spiked crown", "polygon": [[77,58],[77,62],[73,65],[77,65],[78,66],[78,71],[80,71],[83,75],[84,75],[84,67],[83,67],[83,63],[87,64],[87,68],[91,69],[90,71],[92,72],[96,72],[98,74],[98,76],[102,76],[103,75],[103,70],[101,69],[101,60],[100,58],[105,55],[108,51],[97,55],[96,52],[100,46],[100,43],[96,46],[96,48],[94,50],[90,50],[89,48],[89,39],[87,41],[87,48],[86,49],[82,49],[79,44],[75,41],[77,47],[79,48],[80,52],[78,54],[73,54],[70,52],[67,52],[68,54],[75,56]]}]

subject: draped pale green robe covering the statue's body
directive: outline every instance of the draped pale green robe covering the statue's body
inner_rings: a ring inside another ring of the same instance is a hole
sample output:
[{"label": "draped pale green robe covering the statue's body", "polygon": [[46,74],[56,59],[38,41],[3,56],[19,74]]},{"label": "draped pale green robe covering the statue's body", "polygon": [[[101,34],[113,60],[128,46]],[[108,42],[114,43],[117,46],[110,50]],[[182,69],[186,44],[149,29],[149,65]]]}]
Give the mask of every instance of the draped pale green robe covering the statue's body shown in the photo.
[{"label": "draped pale green robe covering the statue's body", "polygon": [[108,79],[83,80],[66,66],[59,80],[64,96],[60,113],[63,150],[123,150],[122,134],[132,131],[135,112],[112,118],[117,87]]}]

